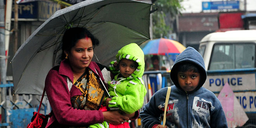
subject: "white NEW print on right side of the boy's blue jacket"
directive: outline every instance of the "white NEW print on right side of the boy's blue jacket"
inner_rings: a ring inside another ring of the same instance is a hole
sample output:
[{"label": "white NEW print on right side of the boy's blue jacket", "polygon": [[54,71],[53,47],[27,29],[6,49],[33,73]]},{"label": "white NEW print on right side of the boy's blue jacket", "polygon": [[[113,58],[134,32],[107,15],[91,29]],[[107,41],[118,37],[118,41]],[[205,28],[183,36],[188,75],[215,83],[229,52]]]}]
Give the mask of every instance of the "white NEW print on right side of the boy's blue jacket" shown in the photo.
[{"label": "white NEW print on right side of the boy's blue jacket", "polygon": [[[209,127],[208,122],[210,121],[210,111],[209,109],[214,109],[215,107],[211,102],[201,99],[199,97],[194,97],[192,113],[195,117],[199,117],[200,123],[195,119],[193,120],[193,128],[207,128]],[[201,125],[200,125],[201,124]]]}]

